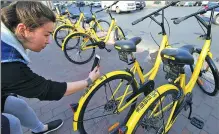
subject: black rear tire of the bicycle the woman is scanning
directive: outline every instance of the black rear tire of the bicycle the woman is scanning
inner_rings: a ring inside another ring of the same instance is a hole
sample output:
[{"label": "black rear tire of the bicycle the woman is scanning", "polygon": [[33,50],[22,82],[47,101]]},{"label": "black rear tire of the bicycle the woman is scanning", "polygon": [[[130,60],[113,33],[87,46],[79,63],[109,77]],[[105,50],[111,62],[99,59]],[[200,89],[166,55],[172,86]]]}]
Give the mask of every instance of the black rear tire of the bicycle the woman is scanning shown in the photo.
[{"label": "black rear tire of the bicycle the woman is scanning", "polygon": [[[107,83],[109,82],[112,82],[113,80],[123,80],[123,81],[131,81],[132,80],[132,76],[129,76],[129,75],[126,75],[126,74],[117,74],[117,75],[113,75],[111,77],[108,77],[107,79],[105,79],[104,81],[102,81],[91,93],[90,95],[88,96],[88,98],[86,99],[82,109],[81,109],[81,112],[79,114],[79,122],[78,122],[78,128],[79,128],[79,132],[80,133],[83,133],[83,134],[87,134],[87,130],[85,129],[84,127],[84,116],[85,116],[85,113],[86,113],[86,110],[88,109],[88,104],[89,102],[91,101],[91,99],[93,97],[95,97],[94,95],[95,94],[98,94],[97,91],[103,91],[101,90],[101,87],[104,87],[104,85],[107,85]],[[132,87],[132,90],[133,92],[135,92],[136,88],[137,88],[137,83],[136,81],[135,82],[132,82],[131,83],[131,87]],[[98,96],[99,97],[99,96]],[[103,100],[101,100],[103,101]],[[136,99],[137,101],[137,99]],[[107,103],[106,103],[107,104]],[[105,105],[106,105],[105,104]],[[128,111],[128,114],[125,116],[124,120],[127,120],[130,115],[132,114],[132,112],[135,110],[135,106],[136,106],[136,103],[132,104],[130,106],[130,110]],[[121,113],[125,113],[125,112],[121,112]],[[112,118],[111,118],[111,121],[112,121]],[[111,125],[111,124],[110,124]],[[93,133],[92,133],[93,134]]]}]

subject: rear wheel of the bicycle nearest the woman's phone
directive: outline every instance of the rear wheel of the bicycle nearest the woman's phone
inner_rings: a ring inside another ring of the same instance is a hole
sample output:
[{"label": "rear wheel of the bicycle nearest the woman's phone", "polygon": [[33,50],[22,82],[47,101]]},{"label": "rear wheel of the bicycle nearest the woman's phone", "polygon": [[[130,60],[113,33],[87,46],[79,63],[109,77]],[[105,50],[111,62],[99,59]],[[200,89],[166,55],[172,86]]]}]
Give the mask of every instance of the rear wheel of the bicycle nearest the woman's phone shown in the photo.
[{"label": "rear wheel of the bicycle nearest the woman's phone", "polygon": [[[79,114],[78,128],[82,134],[107,134],[108,129],[115,123],[122,124],[134,111],[136,104],[129,105],[121,113],[117,111],[120,100],[124,94],[127,83],[132,77],[126,74],[117,74],[102,81],[90,94]],[[112,97],[115,89],[122,81],[121,86]],[[137,83],[133,81],[128,91],[135,92]],[[130,94],[129,94],[130,95]],[[128,96],[128,95],[127,95]],[[126,104],[125,97],[121,106]],[[116,100],[117,99],[117,100]],[[136,99],[137,100],[137,99]],[[98,129],[97,129],[98,128]]]}]

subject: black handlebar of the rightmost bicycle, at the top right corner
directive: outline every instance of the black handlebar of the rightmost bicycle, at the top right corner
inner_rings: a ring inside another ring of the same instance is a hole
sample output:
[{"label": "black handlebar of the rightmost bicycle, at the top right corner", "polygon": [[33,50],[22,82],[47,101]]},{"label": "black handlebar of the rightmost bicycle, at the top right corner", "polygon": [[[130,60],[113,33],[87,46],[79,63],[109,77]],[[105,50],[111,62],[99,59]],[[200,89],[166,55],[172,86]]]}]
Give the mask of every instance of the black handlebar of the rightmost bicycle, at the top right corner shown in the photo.
[{"label": "black handlebar of the rightmost bicycle, at the top right corner", "polygon": [[198,14],[204,14],[207,11],[213,10],[215,8],[218,8],[218,7],[219,7],[219,4],[217,4],[215,6],[212,6],[212,7],[209,7],[207,9],[202,9],[202,10],[200,10],[198,12],[193,13],[193,14],[190,14],[190,15],[187,15],[187,16],[184,16],[184,17],[180,17],[180,18],[174,19],[173,23],[174,24],[179,24],[180,22],[182,22],[182,21],[184,21],[184,20],[186,20],[186,19],[188,19],[188,18],[190,18],[192,16],[195,16],[195,15],[198,15]]}]

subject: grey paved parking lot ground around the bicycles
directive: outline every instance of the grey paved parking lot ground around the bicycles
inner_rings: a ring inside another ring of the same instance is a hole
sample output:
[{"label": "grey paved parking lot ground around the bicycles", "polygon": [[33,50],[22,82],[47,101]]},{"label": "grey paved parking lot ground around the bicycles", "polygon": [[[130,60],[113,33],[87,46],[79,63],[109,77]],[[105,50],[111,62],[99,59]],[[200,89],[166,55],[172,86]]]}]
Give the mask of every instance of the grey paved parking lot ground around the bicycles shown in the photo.
[{"label": "grey paved parking lot ground around the bicycles", "polygon": [[[170,7],[165,10],[165,17],[169,21],[171,29],[169,42],[170,44],[173,44],[174,47],[179,47],[185,44],[193,44],[196,45],[196,47],[202,47],[204,44],[203,40],[197,40],[198,35],[195,33],[203,32],[195,18],[190,18],[179,25],[174,25],[170,20],[174,17],[189,15],[198,11],[199,8],[200,7]],[[143,52],[138,52],[135,55],[136,58],[141,61],[140,64],[145,71],[148,71],[153,65],[147,58],[148,54],[158,49],[157,45],[150,37],[150,32],[154,39],[159,43],[161,41],[161,36],[159,36],[158,33],[161,32],[161,29],[154,22],[150,24],[150,19],[146,19],[135,26],[132,26],[131,22],[155,11],[156,9],[157,8],[145,8],[131,13],[112,13],[113,17],[116,18],[118,25],[124,30],[127,38],[135,36],[142,37],[142,42],[138,47]],[[76,11],[78,12],[77,8],[71,8],[70,10],[73,13]],[[88,12],[87,8],[83,10]],[[98,10],[98,8],[95,8],[94,10]],[[110,17],[105,12],[97,14],[97,17],[110,21]],[[169,34],[167,24],[165,24],[165,27]],[[212,25],[212,37],[211,51],[213,53],[214,61],[219,68],[219,26]],[[113,49],[113,46],[108,46],[108,48],[112,50],[110,53],[107,53],[105,50],[96,51],[101,56],[101,73],[104,74],[113,70],[125,69],[127,65],[119,60],[117,51]],[[30,58],[32,60],[30,66],[34,72],[47,79],[55,81],[75,81],[85,79],[88,76],[92,65],[92,62],[84,65],[72,64],[65,58],[64,53],[57,47],[54,41],[52,41],[45,50],[40,52],[40,54],[30,53]],[[164,84],[165,81],[163,79],[164,73],[162,69],[160,69],[158,77],[155,80],[155,86],[157,87]],[[25,100],[31,105],[31,107],[33,107],[40,120],[43,122],[48,122],[58,118],[65,120],[63,127],[54,132],[54,134],[77,134],[78,132],[73,132],[72,130],[73,112],[70,109],[69,104],[72,102],[76,103],[83,93],[83,91],[78,92],[71,96],[64,97],[57,102],[40,102],[37,99]],[[204,120],[205,126],[203,130],[192,126],[187,119],[188,113],[182,112],[169,133],[219,134],[219,95],[216,97],[207,96],[198,88],[198,86],[196,86],[193,96],[192,116]],[[98,131],[98,128],[96,129]],[[31,133],[26,128],[23,130],[25,134]]]}]

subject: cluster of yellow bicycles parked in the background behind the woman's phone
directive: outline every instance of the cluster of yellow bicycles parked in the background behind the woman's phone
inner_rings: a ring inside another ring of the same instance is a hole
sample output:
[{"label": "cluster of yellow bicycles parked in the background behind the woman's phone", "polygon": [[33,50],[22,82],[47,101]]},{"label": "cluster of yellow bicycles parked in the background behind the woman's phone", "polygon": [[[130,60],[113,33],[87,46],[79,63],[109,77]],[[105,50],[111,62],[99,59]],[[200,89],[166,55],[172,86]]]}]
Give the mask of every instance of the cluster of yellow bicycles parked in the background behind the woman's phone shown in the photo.
[{"label": "cluster of yellow bicycles parked in the background behind the woman's phone", "polygon": [[[125,39],[123,30],[117,25],[115,18],[108,10],[116,3],[95,12],[92,11],[93,4],[89,5],[92,17],[85,17],[80,7],[80,15],[73,15],[68,10],[57,15],[53,38],[70,62],[75,64],[89,62],[97,47],[110,52],[111,50],[106,48],[106,42],[109,41],[112,32],[114,32],[115,40]],[[110,23],[97,19],[96,13],[101,11],[108,12],[111,18]]]}]

